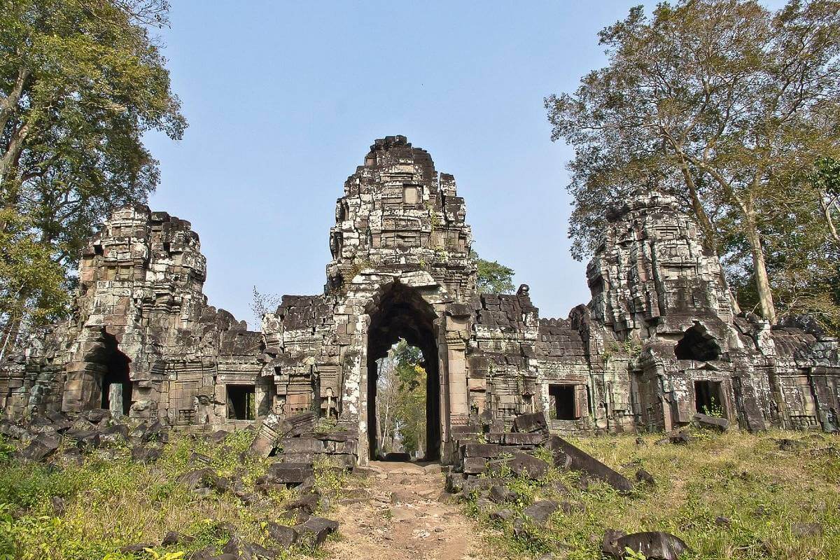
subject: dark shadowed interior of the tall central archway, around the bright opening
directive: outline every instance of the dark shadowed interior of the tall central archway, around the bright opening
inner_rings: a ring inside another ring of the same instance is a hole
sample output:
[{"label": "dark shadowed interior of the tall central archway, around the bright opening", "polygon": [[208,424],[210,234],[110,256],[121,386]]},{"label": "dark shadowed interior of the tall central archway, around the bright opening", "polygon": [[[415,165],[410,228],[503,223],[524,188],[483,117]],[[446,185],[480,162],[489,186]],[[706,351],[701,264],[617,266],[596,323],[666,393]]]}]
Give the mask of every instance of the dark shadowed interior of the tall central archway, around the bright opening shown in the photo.
[{"label": "dark shadowed interior of the tall central archway, around the bright opening", "polygon": [[377,362],[386,358],[391,347],[401,338],[423,354],[426,373],[426,441],[425,460],[440,457],[440,381],[438,345],[434,333],[434,309],[411,286],[395,281],[387,285],[378,300],[368,308],[367,353],[367,430],[370,458],[383,458],[376,416],[376,390],[379,375]]}]

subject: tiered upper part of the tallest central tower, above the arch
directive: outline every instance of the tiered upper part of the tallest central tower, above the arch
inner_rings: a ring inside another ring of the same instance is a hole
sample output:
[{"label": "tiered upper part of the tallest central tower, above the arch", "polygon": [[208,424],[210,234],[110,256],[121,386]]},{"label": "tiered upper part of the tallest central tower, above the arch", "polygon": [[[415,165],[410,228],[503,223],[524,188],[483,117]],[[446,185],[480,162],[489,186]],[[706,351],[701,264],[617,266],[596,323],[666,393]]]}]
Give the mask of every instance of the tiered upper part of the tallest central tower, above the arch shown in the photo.
[{"label": "tiered upper part of the tallest central tower, above the arch", "polygon": [[427,271],[456,301],[475,292],[472,237],[452,175],[405,136],[378,139],[344,183],[335,208],[327,293],[341,293],[360,270]]}]

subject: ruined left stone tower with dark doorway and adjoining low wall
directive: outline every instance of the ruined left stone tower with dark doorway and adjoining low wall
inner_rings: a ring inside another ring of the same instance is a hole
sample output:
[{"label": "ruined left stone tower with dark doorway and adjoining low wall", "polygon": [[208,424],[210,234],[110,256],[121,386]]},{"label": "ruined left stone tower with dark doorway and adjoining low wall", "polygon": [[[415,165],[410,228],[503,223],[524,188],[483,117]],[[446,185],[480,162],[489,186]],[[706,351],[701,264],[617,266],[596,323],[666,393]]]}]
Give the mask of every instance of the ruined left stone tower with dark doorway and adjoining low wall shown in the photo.
[{"label": "ruined left stone tower with dark doorway and adjoining low wall", "polygon": [[171,425],[227,423],[228,385],[255,385],[261,337],[207,305],[205,274],[189,222],[141,206],[114,212],[81,256],[75,316],[7,370],[6,414],[110,407]]}]

